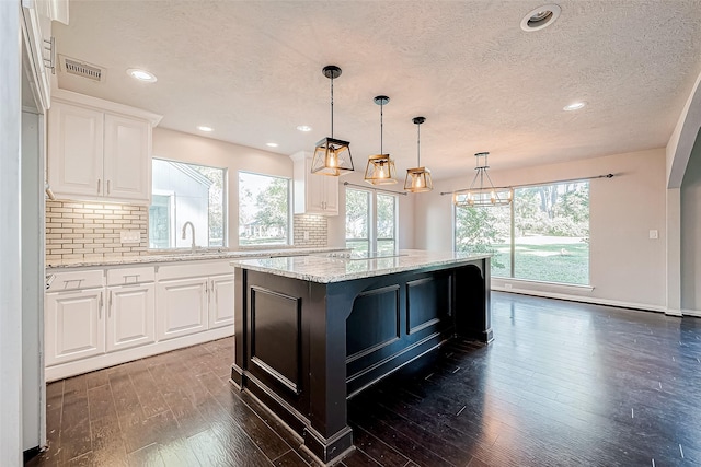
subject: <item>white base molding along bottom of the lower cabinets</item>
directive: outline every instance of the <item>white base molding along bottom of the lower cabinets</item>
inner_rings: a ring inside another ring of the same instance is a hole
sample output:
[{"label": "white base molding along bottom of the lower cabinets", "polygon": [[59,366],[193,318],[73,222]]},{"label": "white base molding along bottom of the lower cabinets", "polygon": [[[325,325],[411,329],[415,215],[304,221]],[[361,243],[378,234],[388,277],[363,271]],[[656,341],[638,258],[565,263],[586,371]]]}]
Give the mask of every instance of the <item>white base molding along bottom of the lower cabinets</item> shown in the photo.
[{"label": "white base molding along bottom of the lower cabinets", "polygon": [[[45,370],[46,382],[49,383],[51,381],[62,380],[65,377],[76,376],[82,373],[106,369],[108,366],[118,365],[133,360],[170,352],[171,350],[195,346],[197,343],[221,339],[229,336],[233,336],[233,326],[209,329],[203,332],[180,337],[177,339],[163,340],[133,349],[125,349],[118,352],[103,353],[101,355],[77,360],[74,362],[48,366]],[[231,361],[233,362],[233,347],[231,348]]]}]

